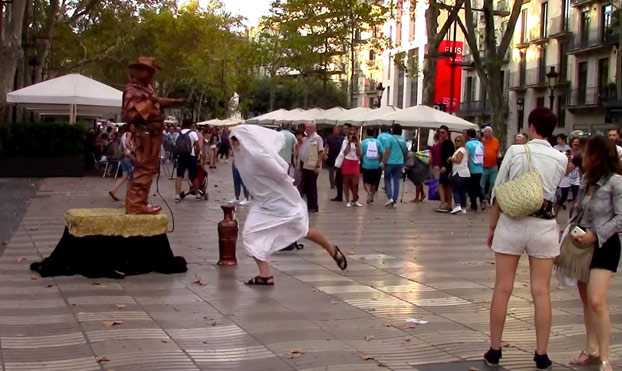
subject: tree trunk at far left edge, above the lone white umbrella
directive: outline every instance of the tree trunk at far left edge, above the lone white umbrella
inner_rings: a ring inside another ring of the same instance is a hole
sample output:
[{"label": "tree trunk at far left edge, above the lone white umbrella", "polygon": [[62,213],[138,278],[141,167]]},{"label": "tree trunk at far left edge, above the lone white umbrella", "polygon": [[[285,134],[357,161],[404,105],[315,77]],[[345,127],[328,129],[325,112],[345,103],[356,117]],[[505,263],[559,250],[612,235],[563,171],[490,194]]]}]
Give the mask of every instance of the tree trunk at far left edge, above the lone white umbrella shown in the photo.
[{"label": "tree trunk at far left edge, above the lone white umbrella", "polygon": [[27,0],[14,0],[3,19],[2,40],[0,40],[0,122],[10,121],[6,94],[15,86],[17,66],[24,58],[22,49],[22,27]]}]

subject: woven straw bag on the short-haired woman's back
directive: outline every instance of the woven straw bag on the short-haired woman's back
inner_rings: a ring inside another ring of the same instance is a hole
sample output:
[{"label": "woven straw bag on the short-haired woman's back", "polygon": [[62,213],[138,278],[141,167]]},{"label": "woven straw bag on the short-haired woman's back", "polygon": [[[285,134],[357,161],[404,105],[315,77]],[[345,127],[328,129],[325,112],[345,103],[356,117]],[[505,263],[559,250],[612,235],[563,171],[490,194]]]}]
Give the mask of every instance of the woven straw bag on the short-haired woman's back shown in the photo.
[{"label": "woven straw bag on the short-haired woman's back", "polygon": [[501,211],[512,219],[523,218],[540,210],[544,202],[542,176],[531,166],[531,150],[524,145],[529,170],[499,184],[494,193]]}]

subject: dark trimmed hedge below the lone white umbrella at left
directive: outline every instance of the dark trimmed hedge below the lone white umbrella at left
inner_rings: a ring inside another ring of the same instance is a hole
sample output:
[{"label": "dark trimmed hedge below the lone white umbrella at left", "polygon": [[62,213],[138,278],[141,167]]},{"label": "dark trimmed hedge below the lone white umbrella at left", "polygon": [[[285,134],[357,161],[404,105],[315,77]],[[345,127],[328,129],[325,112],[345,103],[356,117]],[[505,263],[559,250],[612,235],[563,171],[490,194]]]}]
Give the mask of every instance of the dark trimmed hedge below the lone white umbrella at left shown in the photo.
[{"label": "dark trimmed hedge below the lone white umbrella at left", "polygon": [[86,131],[82,125],[28,122],[0,125],[2,156],[62,157],[84,154]]}]

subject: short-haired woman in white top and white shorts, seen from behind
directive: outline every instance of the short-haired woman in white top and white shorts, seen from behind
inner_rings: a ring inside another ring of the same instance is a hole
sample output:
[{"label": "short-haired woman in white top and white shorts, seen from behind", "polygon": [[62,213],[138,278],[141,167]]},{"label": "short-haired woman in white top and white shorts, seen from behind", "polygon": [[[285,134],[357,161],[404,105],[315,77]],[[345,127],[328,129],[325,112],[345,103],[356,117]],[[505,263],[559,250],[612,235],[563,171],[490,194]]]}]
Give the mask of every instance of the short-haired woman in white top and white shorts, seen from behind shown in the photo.
[{"label": "short-haired woman in white top and white shorts, seen from behind", "polygon": [[[511,146],[503,159],[495,186],[512,180],[527,171],[526,146],[531,152],[531,166],[542,177],[544,200],[542,209],[520,218],[510,219],[495,201],[490,211],[488,247],[495,252],[495,289],[490,308],[490,350],[484,355],[491,366],[501,359],[501,336],[507,315],[508,301],[514,288],[518,261],[529,257],[531,295],[535,307],[536,351],[534,362],[539,370],[551,368],[546,351],[551,331],[550,282],[553,262],[559,255],[559,230],[553,215],[555,191],[566,173],[568,159],[553,149],[546,140],[557,126],[555,114],[539,107],[529,115],[529,137],[526,145]],[[494,197],[494,191],[493,191]]]}]

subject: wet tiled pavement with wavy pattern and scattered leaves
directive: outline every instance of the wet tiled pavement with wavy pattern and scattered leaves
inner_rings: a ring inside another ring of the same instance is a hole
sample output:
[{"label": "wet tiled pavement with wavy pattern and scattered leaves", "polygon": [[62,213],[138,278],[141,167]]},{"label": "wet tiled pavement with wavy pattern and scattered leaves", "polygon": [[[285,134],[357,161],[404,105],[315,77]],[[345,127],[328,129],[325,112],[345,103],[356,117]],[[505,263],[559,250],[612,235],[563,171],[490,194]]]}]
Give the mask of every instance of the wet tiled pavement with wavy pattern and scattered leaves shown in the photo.
[{"label": "wet tiled pavement with wavy pattern and scattered leaves", "polygon": [[[255,266],[219,268],[216,224],[231,197],[231,170],[210,175],[210,201],[171,204],[169,235],[186,274],[38,278],[28,265],[47,256],[71,207],[115,204],[111,179],[46,179],[0,257],[1,361],[7,371],[486,369],[493,255],[485,215],[438,215],[434,205],[345,209],[328,201],[311,216],[348,254],[342,273],[323,250],[276,255],[276,286],[245,287]],[[322,175],[326,182],[325,174]],[[160,180],[171,198],[172,185]],[[412,197],[408,188],[405,198]],[[120,205],[117,205],[120,207]],[[238,217],[244,220],[242,210]],[[532,370],[533,306],[523,261],[510,302],[502,365]],[[199,277],[204,285],[195,283]],[[553,282],[550,356],[556,370],[582,348],[581,304]],[[612,354],[622,367],[622,279],[612,282]],[[406,318],[429,321],[412,325]],[[118,321],[117,324],[106,321]],[[467,362],[468,361],[468,362]],[[380,368],[379,368],[380,366]]]}]

